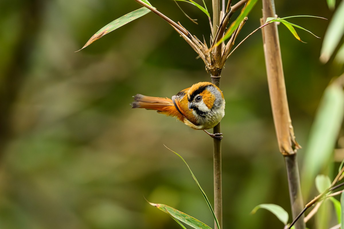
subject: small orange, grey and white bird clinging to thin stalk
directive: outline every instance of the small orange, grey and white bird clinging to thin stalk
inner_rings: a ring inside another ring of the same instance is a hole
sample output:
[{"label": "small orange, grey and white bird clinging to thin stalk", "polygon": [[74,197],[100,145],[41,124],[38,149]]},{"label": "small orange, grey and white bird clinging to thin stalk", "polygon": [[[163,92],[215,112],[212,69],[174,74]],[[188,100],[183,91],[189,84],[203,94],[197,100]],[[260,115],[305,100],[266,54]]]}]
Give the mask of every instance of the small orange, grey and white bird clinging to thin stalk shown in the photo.
[{"label": "small orange, grey and white bird clinging to thin stalk", "polygon": [[204,130],[209,136],[222,139],[222,133],[211,134],[207,129],[216,126],[225,115],[225,99],[222,91],[211,82],[198,82],[171,99],[137,94],[132,108],[156,110],[166,116],[177,117],[187,126]]}]

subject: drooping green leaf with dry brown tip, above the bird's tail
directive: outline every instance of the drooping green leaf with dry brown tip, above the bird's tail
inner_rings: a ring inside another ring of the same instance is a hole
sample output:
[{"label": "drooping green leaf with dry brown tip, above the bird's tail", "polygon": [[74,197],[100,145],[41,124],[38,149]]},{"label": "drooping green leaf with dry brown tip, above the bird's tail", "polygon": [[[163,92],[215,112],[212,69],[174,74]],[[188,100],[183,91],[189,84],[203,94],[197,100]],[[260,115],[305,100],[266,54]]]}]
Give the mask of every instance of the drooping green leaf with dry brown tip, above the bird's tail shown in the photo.
[{"label": "drooping green leaf with dry brown tip, above the bird's tail", "polygon": [[[148,4],[149,2],[146,1]],[[143,15],[149,13],[150,10],[147,9],[146,7],[142,7],[140,9],[134,10],[126,15],[121,16],[120,18],[116,19],[115,21],[110,22],[109,24],[105,25],[103,28],[101,28],[97,33],[95,33],[89,40],[88,42],[82,47],[81,49],[87,47],[88,45],[92,44],[93,42],[97,41],[99,38],[103,37],[105,34],[108,34],[117,28],[135,20]],[[81,50],[80,49],[80,50]],[[80,51],[78,50],[78,51]]]}]

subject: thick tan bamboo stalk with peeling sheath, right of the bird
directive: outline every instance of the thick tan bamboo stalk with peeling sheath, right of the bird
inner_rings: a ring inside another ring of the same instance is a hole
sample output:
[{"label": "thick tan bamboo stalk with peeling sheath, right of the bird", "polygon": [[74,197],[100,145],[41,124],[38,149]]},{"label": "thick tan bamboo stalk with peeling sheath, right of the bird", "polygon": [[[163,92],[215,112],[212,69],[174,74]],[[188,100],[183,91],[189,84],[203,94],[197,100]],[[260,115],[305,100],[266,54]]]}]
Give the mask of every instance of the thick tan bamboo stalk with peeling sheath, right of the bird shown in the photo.
[{"label": "thick tan bamboo stalk with peeling sheath, right of the bird", "polygon": [[[276,12],[273,0],[263,0],[263,18],[261,25],[268,17],[274,17]],[[290,203],[293,219],[299,217],[303,209],[303,200],[300,187],[300,174],[297,163],[297,149],[301,148],[295,141],[289,106],[287,100],[286,85],[284,83],[281,50],[276,23],[262,28],[265,64],[267,70],[269,93],[273,121],[280,152],[284,156],[287,167]],[[296,229],[304,229],[304,215],[295,224]]]}]

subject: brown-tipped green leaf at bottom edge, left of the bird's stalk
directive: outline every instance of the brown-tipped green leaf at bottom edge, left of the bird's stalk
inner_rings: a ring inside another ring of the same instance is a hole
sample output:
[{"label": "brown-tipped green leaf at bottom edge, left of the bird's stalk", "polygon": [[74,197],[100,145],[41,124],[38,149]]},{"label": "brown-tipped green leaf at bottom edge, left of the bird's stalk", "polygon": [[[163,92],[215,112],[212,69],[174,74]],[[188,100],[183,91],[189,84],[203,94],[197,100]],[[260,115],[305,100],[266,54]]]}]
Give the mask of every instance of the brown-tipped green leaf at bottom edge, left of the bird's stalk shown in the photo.
[{"label": "brown-tipped green leaf at bottom edge, left of the bird's stalk", "polygon": [[[180,210],[177,210],[173,207],[170,207],[168,205],[165,204],[153,204],[148,202],[150,205],[157,207],[158,209],[162,210],[164,213],[169,214],[171,217],[173,217],[176,220],[179,220],[181,222],[183,222],[184,224],[187,224],[195,229],[212,229],[211,227],[207,226],[206,224],[204,224],[203,222],[201,222],[198,219],[195,219],[192,216],[189,216],[183,212],[181,212]],[[185,227],[184,227],[185,228]]]}]

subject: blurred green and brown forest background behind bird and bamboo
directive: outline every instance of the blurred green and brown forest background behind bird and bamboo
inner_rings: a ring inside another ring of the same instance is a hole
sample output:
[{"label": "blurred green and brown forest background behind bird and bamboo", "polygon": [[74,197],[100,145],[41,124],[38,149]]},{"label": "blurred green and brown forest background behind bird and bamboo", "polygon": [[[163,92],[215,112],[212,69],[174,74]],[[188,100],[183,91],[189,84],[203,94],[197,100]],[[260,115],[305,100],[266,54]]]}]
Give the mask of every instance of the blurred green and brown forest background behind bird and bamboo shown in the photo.
[{"label": "blurred green and brown forest background behind bird and bamboo", "polygon": [[[151,3],[209,40],[207,18],[196,7],[180,3],[199,25],[173,1]],[[210,8],[211,1],[206,3]],[[0,228],[179,228],[145,198],[213,225],[189,171],[165,148],[184,157],[212,199],[212,139],[175,118],[130,106],[137,93],[171,97],[209,81],[202,60],[153,13],[74,52],[101,27],[138,8],[132,0],[0,2]],[[333,14],[325,0],[280,0],[276,11],[279,16],[328,19]],[[238,41],[259,27],[260,17],[258,2]],[[290,21],[320,37],[329,23]],[[298,154],[302,169],[316,108],[341,67],[320,63],[322,39],[298,33],[307,44],[279,26],[291,118],[303,147]],[[290,212],[260,31],[228,58],[221,88],[226,99],[224,228],[283,228],[268,211],[250,215],[261,203]]]}]

